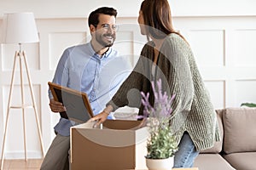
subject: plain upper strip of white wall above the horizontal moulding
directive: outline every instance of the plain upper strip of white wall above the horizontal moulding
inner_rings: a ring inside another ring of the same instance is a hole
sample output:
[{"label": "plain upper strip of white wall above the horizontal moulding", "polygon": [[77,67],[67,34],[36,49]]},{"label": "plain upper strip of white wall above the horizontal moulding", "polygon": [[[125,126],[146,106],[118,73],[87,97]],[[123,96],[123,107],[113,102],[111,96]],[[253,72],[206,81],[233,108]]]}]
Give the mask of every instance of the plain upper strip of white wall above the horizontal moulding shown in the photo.
[{"label": "plain upper strip of white wall above the horizontal moulding", "polygon": [[[1,0],[0,16],[9,12],[32,11],[38,18],[84,18],[99,6],[119,9],[119,16],[134,17],[143,0]],[[254,0],[169,0],[173,16],[247,16],[255,15]]]}]

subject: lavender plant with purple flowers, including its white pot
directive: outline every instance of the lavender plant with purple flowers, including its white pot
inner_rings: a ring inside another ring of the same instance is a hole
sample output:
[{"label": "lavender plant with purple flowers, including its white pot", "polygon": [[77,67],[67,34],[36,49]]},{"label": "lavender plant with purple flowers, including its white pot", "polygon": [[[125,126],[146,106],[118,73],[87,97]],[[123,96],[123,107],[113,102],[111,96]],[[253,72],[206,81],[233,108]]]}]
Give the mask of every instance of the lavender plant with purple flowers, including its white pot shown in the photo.
[{"label": "lavender plant with purple flowers, including its white pot", "polygon": [[161,80],[157,81],[158,90],[154,88],[154,82],[152,82],[152,88],[154,91],[154,107],[149,104],[149,94],[141,93],[144,116],[147,117],[149,132],[148,153],[145,156],[146,164],[148,169],[155,169],[155,167],[149,166],[152,166],[155,162],[161,162],[160,165],[156,165],[156,169],[170,169],[173,166],[174,154],[177,152],[177,141],[170,126],[172,100],[175,96],[168,96],[166,92],[162,92]]}]

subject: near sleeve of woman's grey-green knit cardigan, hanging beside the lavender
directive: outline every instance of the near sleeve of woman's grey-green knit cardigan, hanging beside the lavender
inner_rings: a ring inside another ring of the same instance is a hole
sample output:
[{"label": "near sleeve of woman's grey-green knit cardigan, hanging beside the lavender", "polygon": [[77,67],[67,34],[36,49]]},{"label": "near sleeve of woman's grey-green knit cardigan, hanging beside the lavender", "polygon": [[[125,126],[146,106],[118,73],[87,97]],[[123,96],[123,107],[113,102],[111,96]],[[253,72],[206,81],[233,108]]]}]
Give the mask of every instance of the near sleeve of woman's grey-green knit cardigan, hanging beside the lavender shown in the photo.
[{"label": "near sleeve of woman's grey-green knit cardigan, hanging beside the lavender", "polygon": [[175,95],[172,116],[176,117],[176,121],[181,126],[189,114],[194,94],[191,65],[189,65],[189,45],[181,37],[172,34],[166,38],[160,53],[159,65],[162,73],[160,72],[158,76],[164,82],[163,89],[166,89],[168,94]]}]

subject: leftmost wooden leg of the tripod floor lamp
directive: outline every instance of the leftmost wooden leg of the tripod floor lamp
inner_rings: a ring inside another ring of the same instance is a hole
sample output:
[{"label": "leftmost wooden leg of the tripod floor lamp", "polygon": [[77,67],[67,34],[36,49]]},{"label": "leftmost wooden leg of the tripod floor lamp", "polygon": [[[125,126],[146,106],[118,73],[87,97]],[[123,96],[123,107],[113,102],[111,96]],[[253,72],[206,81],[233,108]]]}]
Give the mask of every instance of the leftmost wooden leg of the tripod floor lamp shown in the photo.
[{"label": "leftmost wooden leg of the tripod floor lamp", "polygon": [[7,114],[6,114],[6,121],[5,121],[5,127],[4,127],[4,134],[3,134],[3,147],[2,147],[2,156],[1,156],[1,169],[3,170],[3,160],[4,160],[4,146],[5,146],[5,140],[7,135],[7,127],[9,122],[9,110],[10,110],[10,101],[12,98],[13,88],[14,88],[14,77],[15,77],[15,65],[16,65],[16,59],[18,57],[18,52],[15,52],[15,61],[12,71],[12,78],[11,78],[11,84],[9,89],[9,100],[8,100],[8,107],[7,107]]}]

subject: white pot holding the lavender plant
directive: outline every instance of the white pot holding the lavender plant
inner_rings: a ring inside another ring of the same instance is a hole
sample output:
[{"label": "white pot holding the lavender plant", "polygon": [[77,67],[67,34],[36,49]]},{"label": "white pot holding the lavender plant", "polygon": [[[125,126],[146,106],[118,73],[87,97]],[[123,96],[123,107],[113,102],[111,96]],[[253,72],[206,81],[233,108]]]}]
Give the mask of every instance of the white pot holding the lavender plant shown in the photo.
[{"label": "white pot holding the lavender plant", "polygon": [[148,170],[172,170],[174,163],[174,156],[166,159],[148,159],[146,158],[146,165]]}]

